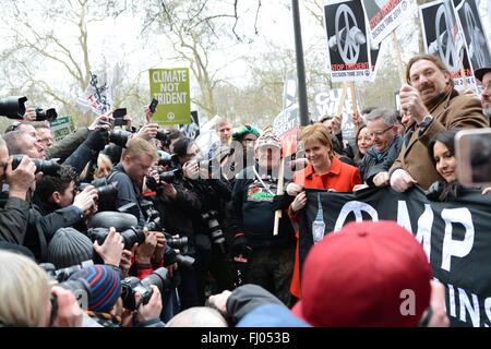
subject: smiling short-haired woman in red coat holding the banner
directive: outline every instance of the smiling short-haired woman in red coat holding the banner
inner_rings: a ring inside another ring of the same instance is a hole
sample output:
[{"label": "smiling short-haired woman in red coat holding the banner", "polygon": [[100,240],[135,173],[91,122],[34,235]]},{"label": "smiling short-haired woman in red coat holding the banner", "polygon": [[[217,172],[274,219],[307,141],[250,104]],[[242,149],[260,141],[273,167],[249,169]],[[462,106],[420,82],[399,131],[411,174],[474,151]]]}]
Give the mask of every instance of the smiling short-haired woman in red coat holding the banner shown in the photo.
[{"label": "smiling short-haired woman in red coat holding the banner", "polygon": [[[303,188],[330,189],[337,192],[351,192],[356,184],[361,184],[360,172],[354,166],[342,163],[333,152],[331,137],[322,123],[309,125],[302,130],[300,141],[309,160],[307,167],[295,173],[294,182],[288,184],[287,192],[296,196],[289,207],[289,215],[294,222],[300,219],[299,212],[307,204]],[[299,230],[297,230],[297,250],[295,252],[294,275],[290,292],[300,298],[300,268],[299,268]]]}]

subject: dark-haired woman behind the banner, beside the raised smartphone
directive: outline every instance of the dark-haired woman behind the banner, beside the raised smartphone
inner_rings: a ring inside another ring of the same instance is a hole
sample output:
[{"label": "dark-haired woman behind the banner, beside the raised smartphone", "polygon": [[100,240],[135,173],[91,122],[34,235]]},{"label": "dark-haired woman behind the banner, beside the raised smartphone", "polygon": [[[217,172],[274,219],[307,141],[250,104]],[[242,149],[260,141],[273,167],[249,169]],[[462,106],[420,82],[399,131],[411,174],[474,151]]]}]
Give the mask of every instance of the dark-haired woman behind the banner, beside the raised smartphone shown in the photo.
[{"label": "dark-haired woman behind the banner, beside the raised smartphone", "polygon": [[[455,135],[459,129],[451,129],[433,136],[428,146],[428,152],[436,172],[444,181],[431,184],[427,195],[431,198],[446,201],[457,197],[463,188],[457,179],[457,158],[455,157]],[[482,194],[487,194],[490,188],[484,188]]]}]

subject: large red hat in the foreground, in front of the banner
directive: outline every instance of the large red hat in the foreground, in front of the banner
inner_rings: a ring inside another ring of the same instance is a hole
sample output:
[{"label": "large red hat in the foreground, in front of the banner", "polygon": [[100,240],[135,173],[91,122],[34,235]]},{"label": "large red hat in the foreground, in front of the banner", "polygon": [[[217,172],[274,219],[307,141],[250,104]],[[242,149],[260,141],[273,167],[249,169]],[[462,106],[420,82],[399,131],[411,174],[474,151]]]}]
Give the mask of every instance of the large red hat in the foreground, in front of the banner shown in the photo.
[{"label": "large red hat in the foreground, in front of the banner", "polygon": [[430,302],[428,258],[394,221],[351,222],[327,234],[302,272],[294,313],[313,326],[416,326]]}]

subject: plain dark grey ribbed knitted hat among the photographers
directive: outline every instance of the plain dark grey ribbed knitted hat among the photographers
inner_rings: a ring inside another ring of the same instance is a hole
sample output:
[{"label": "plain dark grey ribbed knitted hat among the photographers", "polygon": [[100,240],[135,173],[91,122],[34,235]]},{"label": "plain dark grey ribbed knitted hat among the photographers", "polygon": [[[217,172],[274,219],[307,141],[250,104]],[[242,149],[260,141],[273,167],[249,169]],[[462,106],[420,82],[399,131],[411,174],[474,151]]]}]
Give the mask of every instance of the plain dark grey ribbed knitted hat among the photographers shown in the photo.
[{"label": "plain dark grey ribbed knitted hat among the photographers", "polygon": [[57,230],[48,245],[48,262],[57,269],[81,264],[94,256],[91,239],[73,228]]}]

